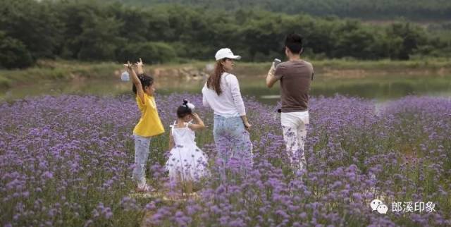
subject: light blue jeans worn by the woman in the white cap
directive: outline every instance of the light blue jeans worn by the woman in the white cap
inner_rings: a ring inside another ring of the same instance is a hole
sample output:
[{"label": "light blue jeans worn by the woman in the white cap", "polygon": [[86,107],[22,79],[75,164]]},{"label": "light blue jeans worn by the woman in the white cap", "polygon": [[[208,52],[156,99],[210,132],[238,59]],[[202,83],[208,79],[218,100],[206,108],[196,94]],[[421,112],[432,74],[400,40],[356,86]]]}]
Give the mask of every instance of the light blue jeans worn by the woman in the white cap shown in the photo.
[{"label": "light blue jeans worn by the woman in the white cap", "polygon": [[215,115],[213,136],[218,156],[225,164],[235,157],[252,166],[252,142],[241,117]]}]

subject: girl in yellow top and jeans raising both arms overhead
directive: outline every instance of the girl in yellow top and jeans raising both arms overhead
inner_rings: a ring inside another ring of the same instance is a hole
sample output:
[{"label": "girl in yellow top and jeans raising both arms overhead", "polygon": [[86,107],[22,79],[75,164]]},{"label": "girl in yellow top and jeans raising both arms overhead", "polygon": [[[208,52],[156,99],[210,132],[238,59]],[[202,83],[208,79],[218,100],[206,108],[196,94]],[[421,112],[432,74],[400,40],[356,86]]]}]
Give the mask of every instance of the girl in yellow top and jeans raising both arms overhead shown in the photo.
[{"label": "girl in yellow top and jeans raising both arms overhead", "polygon": [[130,61],[124,66],[132,79],[132,90],[136,94],[136,103],[141,111],[140,121],[133,130],[135,137],[135,168],[133,168],[132,178],[137,182],[137,192],[150,192],[152,188],[146,183],[146,163],[149,157],[150,141],[153,136],[164,133],[154,99],[154,78],[144,74],[141,59],[137,62],[139,75],[136,75]]}]

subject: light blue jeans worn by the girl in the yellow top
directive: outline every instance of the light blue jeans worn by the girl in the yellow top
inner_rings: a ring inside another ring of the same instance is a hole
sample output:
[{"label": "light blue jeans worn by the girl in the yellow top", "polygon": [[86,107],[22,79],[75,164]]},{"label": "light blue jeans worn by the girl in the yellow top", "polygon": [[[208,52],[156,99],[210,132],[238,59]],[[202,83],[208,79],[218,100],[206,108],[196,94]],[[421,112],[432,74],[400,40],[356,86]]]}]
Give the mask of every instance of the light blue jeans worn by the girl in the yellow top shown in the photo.
[{"label": "light blue jeans worn by the girl in the yellow top", "polygon": [[133,168],[133,180],[139,185],[146,183],[146,164],[149,157],[150,140],[152,137],[135,136],[135,168]]}]

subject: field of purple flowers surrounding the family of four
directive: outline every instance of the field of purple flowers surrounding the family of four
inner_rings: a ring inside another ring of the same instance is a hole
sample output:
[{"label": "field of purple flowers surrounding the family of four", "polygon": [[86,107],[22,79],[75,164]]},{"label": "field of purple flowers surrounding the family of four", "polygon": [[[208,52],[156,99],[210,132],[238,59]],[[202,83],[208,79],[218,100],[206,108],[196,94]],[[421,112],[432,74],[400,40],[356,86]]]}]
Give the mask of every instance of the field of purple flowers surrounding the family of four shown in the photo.
[{"label": "field of purple flowers surrounding the family of four", "polygon": [[[130,96],[34,97],[0,103],[1,226],[451,226],[451,100],[311,99],[307,174],[292,173],[277,106],[245,99],[254,167],[214,165],[213,113],[202,96],[157,96],[166,133],[152,140],[147,176],[167,190],[168,125],[183,99],[208,126],[211,157],[198,197],[130,196],[139,111]],[[387,214],[372,211],[381,200]],[[397,203],[403,209],[394,209]],[[433,210],[405,204],[432,202]],[[395,203],[395,204],[393,204]]]}]

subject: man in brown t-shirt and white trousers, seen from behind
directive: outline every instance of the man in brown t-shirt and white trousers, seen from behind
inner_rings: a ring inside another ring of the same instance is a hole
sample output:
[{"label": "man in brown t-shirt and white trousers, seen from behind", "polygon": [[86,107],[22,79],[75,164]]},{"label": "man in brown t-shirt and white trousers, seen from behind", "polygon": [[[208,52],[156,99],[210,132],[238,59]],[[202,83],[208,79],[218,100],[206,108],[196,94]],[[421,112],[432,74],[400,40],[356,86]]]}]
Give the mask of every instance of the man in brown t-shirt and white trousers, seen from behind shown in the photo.
[{"label": "man in brown t-shirt and white trousers, seen from behind", "polygon": [[288,61],[271,66],[266,77],[266,85],[273,87],[280,80],[282,108],[280,123],[283,129],[288,157],[292,167],[303,173],[306,171],[304,142],[309,124],[309,90],[313,79],[313,66],[300,58],[302,37],[290,34],[285,39],[285,55]]}]

